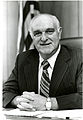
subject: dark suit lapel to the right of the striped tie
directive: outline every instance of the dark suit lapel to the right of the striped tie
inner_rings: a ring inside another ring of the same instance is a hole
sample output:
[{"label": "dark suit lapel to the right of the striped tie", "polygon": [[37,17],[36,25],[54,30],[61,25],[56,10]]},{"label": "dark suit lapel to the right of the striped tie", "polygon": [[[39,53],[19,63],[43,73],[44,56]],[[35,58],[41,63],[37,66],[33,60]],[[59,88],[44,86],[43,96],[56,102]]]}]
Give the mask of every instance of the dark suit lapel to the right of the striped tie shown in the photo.
[{"label": "dark suit lapel to the right of the striped tie", "polygon": [[51,85],[50,85],[50,96],[56,94],[57,89],[62,81],[62,78],[68,69],[67,61],[69,61],[70,59],[69,53],[64,47],[62,47],[61,49],[62,50],[58,55],[58,58],[54,66],[54,71],[52,74]]}]

